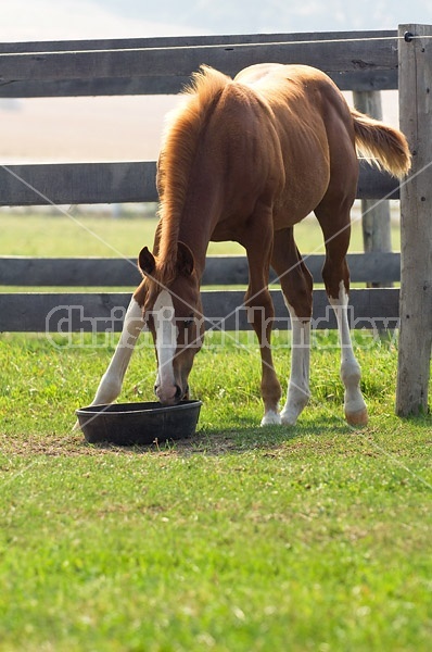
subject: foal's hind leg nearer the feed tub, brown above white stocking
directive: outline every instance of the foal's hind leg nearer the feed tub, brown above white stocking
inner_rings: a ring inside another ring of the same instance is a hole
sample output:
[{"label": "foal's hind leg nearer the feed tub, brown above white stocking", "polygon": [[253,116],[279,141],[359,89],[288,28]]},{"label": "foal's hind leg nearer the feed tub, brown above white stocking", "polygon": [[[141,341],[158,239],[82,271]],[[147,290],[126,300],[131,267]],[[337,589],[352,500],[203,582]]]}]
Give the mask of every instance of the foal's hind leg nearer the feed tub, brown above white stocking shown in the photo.
[{"label": "foal's hind leg nearer the feed tub, brown above white stocking", "polygon": [[292,328],[291,374],[282,424],[293,426],[309,400],[312,276],[294,242],[293,229],[275,235],[271,265],[279,276]]}]

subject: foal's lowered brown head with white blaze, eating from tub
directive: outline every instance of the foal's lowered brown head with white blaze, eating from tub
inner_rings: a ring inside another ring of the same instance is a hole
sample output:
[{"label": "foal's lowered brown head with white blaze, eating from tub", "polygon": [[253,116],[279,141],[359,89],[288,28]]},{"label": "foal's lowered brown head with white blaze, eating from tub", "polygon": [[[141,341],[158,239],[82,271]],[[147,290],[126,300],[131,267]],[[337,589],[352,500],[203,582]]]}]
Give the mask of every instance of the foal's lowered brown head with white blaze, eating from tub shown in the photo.
[{"label": "foal's lowered brown head with white blaze, eating from tub", "polygon": [[165,405],[189,397],[188,377],[202,347],[204,318],[193,254],[182,242],[169,268],[142,249],[139,266],[147,277],[143,317],[157,359],[154,391]]}]

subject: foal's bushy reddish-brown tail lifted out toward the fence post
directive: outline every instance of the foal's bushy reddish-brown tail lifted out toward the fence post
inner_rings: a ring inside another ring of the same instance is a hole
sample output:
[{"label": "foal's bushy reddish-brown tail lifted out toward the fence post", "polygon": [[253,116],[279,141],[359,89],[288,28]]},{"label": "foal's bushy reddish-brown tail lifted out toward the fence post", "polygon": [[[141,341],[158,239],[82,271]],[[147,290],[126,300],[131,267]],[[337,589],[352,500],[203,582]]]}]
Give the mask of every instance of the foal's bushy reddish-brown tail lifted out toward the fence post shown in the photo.
[{"label": "foal's bushy reddish-brown tail lifted out toward the fence post", "polygon": [[358,152],[391,175],[402,178],[411,166],[407,139],[398,129],[351,109]]}]

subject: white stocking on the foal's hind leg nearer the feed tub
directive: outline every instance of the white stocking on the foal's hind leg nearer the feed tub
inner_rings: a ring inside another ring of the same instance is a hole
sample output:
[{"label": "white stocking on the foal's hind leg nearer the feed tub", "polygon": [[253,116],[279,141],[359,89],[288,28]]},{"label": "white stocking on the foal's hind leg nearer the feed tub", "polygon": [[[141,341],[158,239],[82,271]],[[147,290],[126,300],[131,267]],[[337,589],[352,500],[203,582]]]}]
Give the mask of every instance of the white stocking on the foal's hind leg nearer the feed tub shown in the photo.
[{"label": "white stocking on the foal's hind leg nearer the feed tub", "polygon": [[291,374],[287,402],[280,416],[282,424],[293,426],[310,397],[310,321],[300,319],[289,303],[287,308],[290,311],[292,328]]}]

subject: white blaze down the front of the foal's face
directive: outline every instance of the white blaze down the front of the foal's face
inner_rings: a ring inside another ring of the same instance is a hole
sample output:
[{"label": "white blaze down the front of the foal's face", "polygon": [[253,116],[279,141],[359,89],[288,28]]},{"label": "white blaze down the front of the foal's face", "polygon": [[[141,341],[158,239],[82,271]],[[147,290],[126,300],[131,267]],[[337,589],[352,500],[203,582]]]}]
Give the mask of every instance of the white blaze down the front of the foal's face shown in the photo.
[{"label": "white blaze down the front of the foal's face", "polygon": [[177,349],[177,328],[173,299],[167,290],[162,290],[153,306],[153,319],[156,331],[157,351],[157,396],[161,400],[173,398],[176,381],[173,360]]}]

